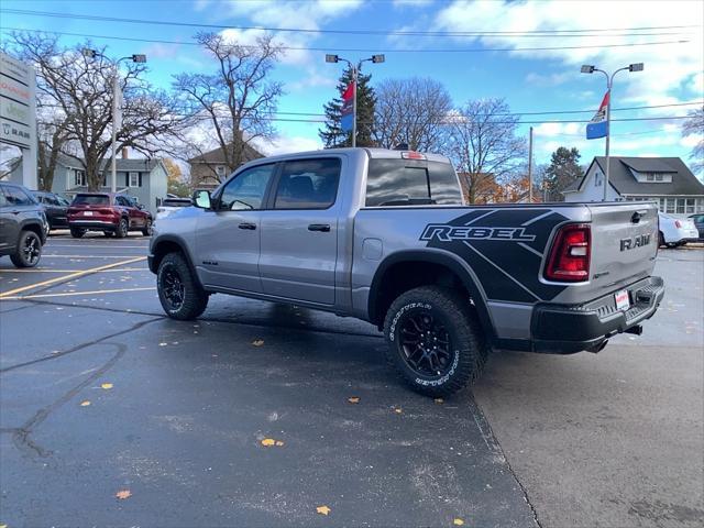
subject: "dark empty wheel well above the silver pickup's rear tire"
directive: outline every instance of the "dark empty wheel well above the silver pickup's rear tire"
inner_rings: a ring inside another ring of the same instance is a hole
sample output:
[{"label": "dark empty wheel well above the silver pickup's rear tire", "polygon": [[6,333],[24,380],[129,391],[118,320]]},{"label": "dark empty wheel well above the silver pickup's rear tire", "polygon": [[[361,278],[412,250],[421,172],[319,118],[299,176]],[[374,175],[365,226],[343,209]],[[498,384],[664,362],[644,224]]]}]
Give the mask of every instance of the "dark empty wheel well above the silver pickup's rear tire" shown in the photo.
[{"label": "dark empty wheel well above the silver pickup's rear tire", "polygon": [[388,266],[378,279],[375,279],[378,287],[372,292],[374,296],[372,302],[372,322],[382,326],[388,307],[404,292],[419,286],[441,286],[443,288],[459,292],[471,298],[462,279],[448,266],[433,262],[405,261]]}]

